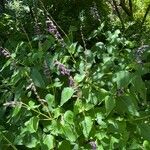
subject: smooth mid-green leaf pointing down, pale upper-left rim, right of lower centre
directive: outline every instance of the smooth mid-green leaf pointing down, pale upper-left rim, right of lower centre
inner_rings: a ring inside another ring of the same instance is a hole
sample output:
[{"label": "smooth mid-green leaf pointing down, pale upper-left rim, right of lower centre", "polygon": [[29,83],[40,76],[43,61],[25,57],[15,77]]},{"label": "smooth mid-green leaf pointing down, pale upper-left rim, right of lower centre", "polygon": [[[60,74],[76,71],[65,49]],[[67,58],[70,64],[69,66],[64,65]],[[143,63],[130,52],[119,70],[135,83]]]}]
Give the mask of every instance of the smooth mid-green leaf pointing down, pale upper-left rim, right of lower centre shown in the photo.
[{"label": "smooth mid-green leaf pointing down, pale upper-left rim, right of lower centre", "polygon": [[107,96],[105,98],[105,108],[107,115],[115,108],[116,102],[112,96]]}]

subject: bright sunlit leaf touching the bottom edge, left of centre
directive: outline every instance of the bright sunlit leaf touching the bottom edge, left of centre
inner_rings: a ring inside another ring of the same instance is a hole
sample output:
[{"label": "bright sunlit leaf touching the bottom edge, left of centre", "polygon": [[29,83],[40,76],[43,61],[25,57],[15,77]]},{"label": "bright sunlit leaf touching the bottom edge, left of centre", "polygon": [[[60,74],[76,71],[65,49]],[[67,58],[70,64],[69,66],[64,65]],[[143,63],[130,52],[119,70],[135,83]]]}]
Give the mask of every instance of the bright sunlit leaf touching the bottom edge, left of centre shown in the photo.
[{"label": "bright sunlit leaf touching the bottom edge, left of centre", "polygon": [[46,145],[46,148],[44,148],[45,150],[50,150],[54,148],[54,136],[52,136],[51,134],[45,135],[43,139],[43,144]]}]

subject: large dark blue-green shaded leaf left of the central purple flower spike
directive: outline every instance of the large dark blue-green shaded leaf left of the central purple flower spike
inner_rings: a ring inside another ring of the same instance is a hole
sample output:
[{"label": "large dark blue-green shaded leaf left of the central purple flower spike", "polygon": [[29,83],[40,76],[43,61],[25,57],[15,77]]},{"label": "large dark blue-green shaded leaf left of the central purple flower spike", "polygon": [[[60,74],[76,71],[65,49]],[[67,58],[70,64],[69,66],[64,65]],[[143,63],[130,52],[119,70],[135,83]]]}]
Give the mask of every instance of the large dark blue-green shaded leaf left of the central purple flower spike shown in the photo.
[{"label": "large dark blue-green shaded leaf left of the central purple flower spike", "polygon": [[33,68],[31,70],[31,78],[34,82],[34,84],[40,88],[44,88],[45,87],[45,82],[42,78],[42,75],[40,74],[40,72],[37,70],[37,68]]}]

